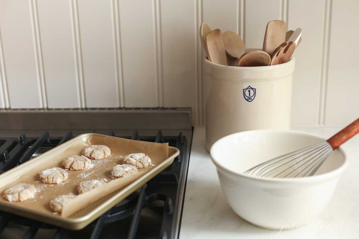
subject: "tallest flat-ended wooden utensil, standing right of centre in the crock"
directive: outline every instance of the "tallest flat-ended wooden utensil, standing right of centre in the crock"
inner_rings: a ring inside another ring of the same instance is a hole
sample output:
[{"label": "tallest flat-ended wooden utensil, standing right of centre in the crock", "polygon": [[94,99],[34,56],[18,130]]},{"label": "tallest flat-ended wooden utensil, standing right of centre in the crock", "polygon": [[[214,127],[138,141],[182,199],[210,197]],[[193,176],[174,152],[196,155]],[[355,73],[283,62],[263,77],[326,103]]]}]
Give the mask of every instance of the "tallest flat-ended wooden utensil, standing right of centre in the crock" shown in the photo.
[{"label": "tallest flat-ended wooden utensil, standing right of centre in the crock", "polygon": [[285,31],[285,21],[269,21],[264,34],[263,51],[271,55],[281,43],[285,42]]}]

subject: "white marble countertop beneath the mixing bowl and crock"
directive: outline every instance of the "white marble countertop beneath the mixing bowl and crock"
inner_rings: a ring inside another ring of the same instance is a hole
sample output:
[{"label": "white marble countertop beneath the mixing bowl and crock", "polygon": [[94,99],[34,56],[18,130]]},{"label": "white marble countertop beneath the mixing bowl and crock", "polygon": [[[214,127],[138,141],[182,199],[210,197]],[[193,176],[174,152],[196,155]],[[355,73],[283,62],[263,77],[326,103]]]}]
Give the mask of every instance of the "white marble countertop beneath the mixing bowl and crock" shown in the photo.
[{"label": "white marble countertop beneath the mixing bowl and crock", "polygon": [[[330,137],[340,128],[296,128]],[[349,166],[334,196],[311,224],[292,230],[258,228],[240,218],[225,201],[205,147],[205,128],[195,128],[183,206],[180,238],[359,238],[359,135],[342,145]],[[297,227],[294,225],[294,227]]]}]

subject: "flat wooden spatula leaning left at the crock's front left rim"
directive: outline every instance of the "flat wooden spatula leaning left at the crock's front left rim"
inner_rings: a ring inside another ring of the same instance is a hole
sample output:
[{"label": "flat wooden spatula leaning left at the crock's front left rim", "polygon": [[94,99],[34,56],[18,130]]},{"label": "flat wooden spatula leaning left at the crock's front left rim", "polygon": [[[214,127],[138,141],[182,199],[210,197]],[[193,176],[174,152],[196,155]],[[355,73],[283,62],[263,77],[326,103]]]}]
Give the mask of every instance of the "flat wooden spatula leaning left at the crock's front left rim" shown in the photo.
[{"label": "flat wooden spatula leaning left at the crock's front left rim", "polygon": [[211,62],[227,66],[221,30],[214,29],[206,36],[206,49]]}]

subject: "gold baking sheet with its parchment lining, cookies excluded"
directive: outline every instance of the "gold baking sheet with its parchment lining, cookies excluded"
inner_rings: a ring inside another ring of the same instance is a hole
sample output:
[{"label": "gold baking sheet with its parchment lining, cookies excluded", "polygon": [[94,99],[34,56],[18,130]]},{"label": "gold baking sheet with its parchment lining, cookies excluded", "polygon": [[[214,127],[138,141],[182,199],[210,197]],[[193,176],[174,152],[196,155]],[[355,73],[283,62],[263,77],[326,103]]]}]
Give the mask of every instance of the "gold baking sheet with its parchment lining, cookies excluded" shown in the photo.
[{"label": "gold baking sheet with its parchment lining, cookies excluded", "polygon": [[[41,170],[61,168],[64,158],[81,155],[82,150],[90,144],[107,145],[111,149],[111,156],[91,160],[92,167],[83,171],[67,170],[69,178],[59,185],[45,184],[39,180],[38,173]],[[153,166],[139,169],[134,175],[111,179],[112,168],[121,164],[123,157],[129,153],[147,154]],[[19,182],[33,183],[38,190],[33,199],[23,202],[8,202],[1,196],[0,210],[68,229],[81,229],[168,167],[178,154],[179,150],[168,147],[167,143],[144,142],[94,133],[82,134],[0,175],[1,195],[6,188]],[[106,186],[95,188],[71,200],[64,205],[62,214],[50,211],[49,203],[53,197],[69,193],[77,195],[76,188],[79,183],[93,179],[107,182]]]}]

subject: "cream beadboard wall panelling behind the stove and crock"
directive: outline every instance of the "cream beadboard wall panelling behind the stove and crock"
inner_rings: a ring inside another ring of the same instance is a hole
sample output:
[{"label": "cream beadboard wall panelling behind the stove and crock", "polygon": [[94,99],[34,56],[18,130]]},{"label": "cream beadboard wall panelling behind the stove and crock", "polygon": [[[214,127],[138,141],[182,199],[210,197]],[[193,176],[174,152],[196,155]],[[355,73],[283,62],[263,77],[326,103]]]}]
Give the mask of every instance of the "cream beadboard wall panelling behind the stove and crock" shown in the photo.
[{"label": "cream beadboard wall panelling behind the stove and crock", "polygon": [[357,0],[0,0],[0,107],[192,107],[205,124],[202,21],[261,48],[301,27],[293,127],[359,116]]}]

